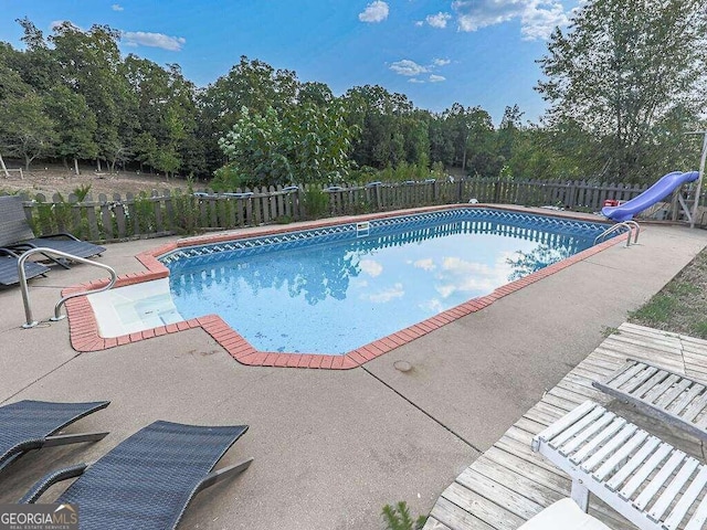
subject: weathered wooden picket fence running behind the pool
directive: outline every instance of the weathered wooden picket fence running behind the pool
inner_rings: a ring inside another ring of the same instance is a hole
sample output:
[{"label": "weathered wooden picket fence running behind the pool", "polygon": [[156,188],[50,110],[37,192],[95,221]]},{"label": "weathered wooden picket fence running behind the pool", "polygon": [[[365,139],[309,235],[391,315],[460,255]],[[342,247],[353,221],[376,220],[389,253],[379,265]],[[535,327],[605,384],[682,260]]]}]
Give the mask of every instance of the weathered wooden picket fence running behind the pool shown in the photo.
[{"label": "weathered wooden picket fence running behind the pool", "polygon": [[333,215],[361,214],[434,204],[467,203],[557,205],[599,211],[606,199],[626,201],[647,186],[585,181],[541,182],[466,178],[457,181],[408,181],[321,188],[270,187],[232,193],[165,190],[99,194],[83,200],[55,194],[24,195],[25,213],[38,235],[72,232],[89,241],[117,241],[200,230],[288,223]]}]

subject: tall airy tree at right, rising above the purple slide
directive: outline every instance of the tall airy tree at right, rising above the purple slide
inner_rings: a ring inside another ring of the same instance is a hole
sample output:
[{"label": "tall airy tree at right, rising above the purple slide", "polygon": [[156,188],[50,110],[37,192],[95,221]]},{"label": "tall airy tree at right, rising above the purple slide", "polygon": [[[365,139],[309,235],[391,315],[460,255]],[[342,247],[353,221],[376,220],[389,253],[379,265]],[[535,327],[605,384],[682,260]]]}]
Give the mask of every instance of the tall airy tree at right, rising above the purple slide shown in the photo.
[{"label": "tall airy tree at right, rising above the purple slide", "polygon": [[579,162],[602,178],[637,181],[676,169],[657,167],[651,153],[680,142],[707,103],[706,35],[704,0],[590,0],[567,31],[552,33],[539,61],[547,80],[537,89],[551,104],[546,123],[588,134],[599,156]]}]

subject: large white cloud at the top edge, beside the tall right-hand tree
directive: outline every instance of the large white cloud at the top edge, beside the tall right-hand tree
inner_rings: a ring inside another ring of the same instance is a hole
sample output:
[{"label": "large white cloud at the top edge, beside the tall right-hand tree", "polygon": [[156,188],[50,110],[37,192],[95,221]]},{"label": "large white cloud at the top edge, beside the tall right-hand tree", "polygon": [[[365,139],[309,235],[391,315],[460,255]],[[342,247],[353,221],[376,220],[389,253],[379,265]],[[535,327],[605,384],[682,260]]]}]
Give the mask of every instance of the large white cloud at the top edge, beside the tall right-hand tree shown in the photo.
[{"label": "large white cloud at the top edge, beside the tall right-hand tree", "polygon": [[525,40],[548,39],[557,25],[569,22],[560,0],[455,0],[452,9],[461,31],[476,31],[519,19]]}]

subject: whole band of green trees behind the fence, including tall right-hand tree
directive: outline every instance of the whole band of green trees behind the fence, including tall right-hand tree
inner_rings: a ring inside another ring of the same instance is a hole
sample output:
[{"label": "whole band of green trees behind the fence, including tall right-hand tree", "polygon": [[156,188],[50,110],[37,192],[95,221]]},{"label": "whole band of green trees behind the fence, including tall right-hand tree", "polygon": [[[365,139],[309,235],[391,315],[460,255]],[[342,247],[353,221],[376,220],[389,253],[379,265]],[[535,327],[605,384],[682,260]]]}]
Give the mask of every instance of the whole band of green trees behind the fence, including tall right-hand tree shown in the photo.
[{"label": "whole band of green trees behind the fence, including tall right-hand tree", "polygon": [[45,36],[18,22],[23,49],[0,43],[0,152],[25,167],[48,157],[110,171],[139,163],[168,178],[214,176],[223,191],[440,179],[445,167],[653,182],[696,166],[700,138],[683,132],[704,127],[707,107],[701,0],[583,2],[540,60],[538,89],[551,105],[542,125],[524,125],[509,105],[497,128],[477,106],[431,113],[377,85],[336,97],[245,56],[198,89],[177,64],[122,55],[107,25],[64,22]]}]

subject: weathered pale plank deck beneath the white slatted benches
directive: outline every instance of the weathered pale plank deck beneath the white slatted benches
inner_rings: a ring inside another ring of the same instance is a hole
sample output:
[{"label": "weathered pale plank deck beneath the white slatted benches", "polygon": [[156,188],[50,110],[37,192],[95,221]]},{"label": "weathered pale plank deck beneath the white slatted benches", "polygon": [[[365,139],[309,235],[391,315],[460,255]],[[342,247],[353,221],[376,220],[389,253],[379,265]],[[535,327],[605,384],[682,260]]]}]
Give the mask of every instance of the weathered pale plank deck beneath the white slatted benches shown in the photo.
[{"label": "weathered pale plank deck beneath the white slatted benches", "polygon": [[[705,462],[696,438],[675,433],[591,385],[629,357],[707,381],[707,341],[623,324],[442,492],[424,530],[515,530],[541,509],[568,497],[569,478],[532,453],[530,441],[588,399]],[[595,497],[589,511],[612,529],[635,528]]]}]

